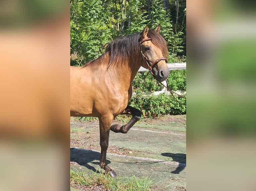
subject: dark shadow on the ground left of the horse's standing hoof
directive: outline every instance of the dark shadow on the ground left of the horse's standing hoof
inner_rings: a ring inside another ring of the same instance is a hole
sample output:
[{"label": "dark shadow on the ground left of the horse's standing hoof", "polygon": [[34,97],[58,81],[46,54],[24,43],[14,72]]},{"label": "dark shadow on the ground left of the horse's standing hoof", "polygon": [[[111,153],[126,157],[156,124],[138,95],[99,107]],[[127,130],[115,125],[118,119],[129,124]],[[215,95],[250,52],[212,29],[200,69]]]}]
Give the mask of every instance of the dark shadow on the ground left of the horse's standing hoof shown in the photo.
[{"label": "dark shadow on the ground left of the horse's standing hoof", "polygon": [[[93,162],[94,160],[98,160],[100,158],[100,153],[93,150],[86,150],[81,148],[70,148],[70,161],[76,162],[81,166],[85,166],[89,170],[93,170],[94,172],[99,172],[99,169],[95,169],[94,166],[89,163],[99,165],[99,162]],[[107,164],[110,163],[109,160],[106,160]]]}]

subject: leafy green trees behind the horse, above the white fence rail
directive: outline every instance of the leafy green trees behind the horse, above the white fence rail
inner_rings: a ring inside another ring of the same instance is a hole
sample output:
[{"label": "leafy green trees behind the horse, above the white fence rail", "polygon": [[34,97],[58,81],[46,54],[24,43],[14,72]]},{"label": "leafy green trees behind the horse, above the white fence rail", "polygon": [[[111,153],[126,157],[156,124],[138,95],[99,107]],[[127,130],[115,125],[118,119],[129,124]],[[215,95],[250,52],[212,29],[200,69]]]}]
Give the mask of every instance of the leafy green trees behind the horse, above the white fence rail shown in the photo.
[{"label": "leafy green trees behind the horse, above the white fence rail", "polygon": [[119,36],[158,24],[168,43],[169,59],[181,61],[179,57],[185,52],[185,17],[180,20],[171,14],[176,1],[170,1],[169,6],[168,0],[71,0],[70,53],[75,55],[71,65],[83,65],[96,59],[104,52],[105,44]]}]

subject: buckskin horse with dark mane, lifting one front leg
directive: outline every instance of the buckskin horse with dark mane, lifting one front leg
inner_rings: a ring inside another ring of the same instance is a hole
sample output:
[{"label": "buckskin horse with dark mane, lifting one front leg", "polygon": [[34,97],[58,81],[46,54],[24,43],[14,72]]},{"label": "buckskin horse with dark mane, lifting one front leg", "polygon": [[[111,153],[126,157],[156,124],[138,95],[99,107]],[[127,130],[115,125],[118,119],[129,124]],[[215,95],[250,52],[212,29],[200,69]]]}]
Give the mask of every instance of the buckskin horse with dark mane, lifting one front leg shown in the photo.
[{"label": "buckskin horse with dark mane, lifting one front leg", "polygon": [[[148,68],[158,82],[165,81],[170,72],[166,65],[168,49],[160,35],[148,26],[140,33],[119,37],[107,44],[105,53],[83,67],[70,69],[70,115],[99,118],[100,167],[116,177],[106,163],[110,130],[127,133],[140,119],[141,111],[128,105],[132,96],[132,81],[142,66]],[[120,114],[132,115],[125,125],[113,124]]]}]

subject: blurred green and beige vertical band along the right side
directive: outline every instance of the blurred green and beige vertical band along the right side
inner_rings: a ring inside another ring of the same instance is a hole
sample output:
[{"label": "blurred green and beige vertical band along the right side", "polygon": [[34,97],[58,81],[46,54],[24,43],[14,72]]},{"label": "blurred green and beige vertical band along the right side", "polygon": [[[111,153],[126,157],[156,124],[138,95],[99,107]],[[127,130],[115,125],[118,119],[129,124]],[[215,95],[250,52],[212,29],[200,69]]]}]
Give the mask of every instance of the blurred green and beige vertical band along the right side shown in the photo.
[{"label": "blurred green and beige vertical band along the right side", "polygon": [[255,190],[254,1],[187,1],[187,189]]}]

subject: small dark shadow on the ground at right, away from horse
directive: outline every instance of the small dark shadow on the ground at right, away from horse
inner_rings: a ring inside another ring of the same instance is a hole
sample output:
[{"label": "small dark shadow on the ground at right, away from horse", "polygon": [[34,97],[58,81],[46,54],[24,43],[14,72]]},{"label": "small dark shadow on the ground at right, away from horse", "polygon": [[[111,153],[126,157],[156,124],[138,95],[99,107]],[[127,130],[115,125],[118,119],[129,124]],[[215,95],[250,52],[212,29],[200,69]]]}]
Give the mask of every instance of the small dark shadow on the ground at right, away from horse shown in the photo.
[{"label": "small dark shadow on the ground at right, away from horse", "polygon": [[165,152],[162,155],[171,157],[173,161],[179,163],[179,166],[174,171],[171,171],[171,173],[179,174],[186,167],[186,154]]}]

